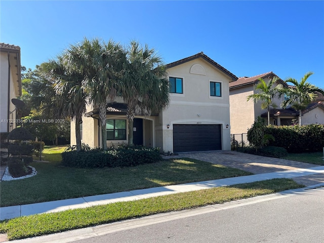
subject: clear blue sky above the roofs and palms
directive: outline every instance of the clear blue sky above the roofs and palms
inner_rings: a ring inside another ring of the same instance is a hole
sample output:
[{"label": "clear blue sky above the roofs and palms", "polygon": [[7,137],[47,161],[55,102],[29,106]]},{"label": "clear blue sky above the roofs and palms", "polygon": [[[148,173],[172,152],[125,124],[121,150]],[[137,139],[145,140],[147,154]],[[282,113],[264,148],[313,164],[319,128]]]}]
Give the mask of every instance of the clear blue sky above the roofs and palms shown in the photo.
[{"label": "clear blue sky above the roofs and palms", "polygon": [[324,88],[324,1],[0,1],[0,42],[34,69],[88,38],[148,44],[165,63],[203,51],[236,76]]}]

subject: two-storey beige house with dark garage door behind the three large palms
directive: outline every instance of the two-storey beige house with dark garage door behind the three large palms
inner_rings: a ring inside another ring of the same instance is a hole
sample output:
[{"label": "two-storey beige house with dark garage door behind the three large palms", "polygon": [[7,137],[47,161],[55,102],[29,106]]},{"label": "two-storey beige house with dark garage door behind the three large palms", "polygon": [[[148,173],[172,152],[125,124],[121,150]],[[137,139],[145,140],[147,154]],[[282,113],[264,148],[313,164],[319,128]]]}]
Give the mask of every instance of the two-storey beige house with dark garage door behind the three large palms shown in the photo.
[{"label": "two-storey beige house with dark garage door behind the three large palms", "polygon": [[[134,144],[183,152],[230,150],[229,84],[237,77],[203,52],[167,65],[170,105],[159,114],[136,116]],[[127,106],[107,104],[107,146],[128,143]],[[71,122],[71,144],[75,144]],[[82,142],[101,147],[98,111],[87,107]]]}]

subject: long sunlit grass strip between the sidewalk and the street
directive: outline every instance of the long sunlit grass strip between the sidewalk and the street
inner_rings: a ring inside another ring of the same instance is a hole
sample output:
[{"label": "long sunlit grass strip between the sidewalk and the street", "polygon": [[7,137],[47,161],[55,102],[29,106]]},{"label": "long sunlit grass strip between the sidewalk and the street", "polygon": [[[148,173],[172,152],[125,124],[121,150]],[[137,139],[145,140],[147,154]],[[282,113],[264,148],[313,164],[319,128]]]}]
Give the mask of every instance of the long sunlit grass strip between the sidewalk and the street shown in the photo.
[{"label": "long sunlit grass strip between the sidewalk and the street", "polygon": [[59,213],[19,217],[0,223],[9,240],[84,228],[152,214],[193,209],[206,205],[303,187],[291,179],[272,179],[157,196]]}]

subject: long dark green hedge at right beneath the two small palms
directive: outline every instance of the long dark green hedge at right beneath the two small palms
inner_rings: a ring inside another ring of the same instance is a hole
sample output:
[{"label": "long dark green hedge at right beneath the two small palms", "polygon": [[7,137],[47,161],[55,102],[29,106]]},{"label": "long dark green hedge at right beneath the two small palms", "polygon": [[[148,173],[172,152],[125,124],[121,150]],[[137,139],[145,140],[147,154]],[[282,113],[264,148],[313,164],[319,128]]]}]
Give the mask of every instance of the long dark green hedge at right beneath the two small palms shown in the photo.
[{"label": "long dark green hedge at right beneath the two small palms", "polygon": [[265,134],[271,134],[275,141],[269,146],[287,149],[292,153],[317,152],[324,147],[324,125],[267,126]]}]

